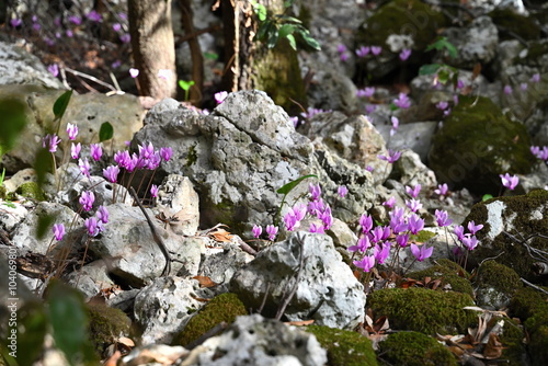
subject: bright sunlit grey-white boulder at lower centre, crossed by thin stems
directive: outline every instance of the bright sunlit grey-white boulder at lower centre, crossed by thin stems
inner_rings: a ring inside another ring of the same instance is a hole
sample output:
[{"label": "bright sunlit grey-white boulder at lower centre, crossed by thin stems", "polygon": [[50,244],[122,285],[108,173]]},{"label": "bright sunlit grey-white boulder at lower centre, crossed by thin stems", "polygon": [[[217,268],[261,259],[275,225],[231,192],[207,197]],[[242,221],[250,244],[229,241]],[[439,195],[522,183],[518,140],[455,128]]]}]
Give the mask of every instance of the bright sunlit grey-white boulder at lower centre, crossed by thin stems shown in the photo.
[{"label": "bright sunlit grey-white boulder at lower centre, crossed by thin stems", "polygon": [[324,235],[294,232],[286,241],[261,251],[233,275],[230,291],[252,309],[259,309],[266,296],[263,313],[274,316],[283,294],[295,284],[300,255],[305,265],[285,317],[353,329],[364,317],[363,286]]}]

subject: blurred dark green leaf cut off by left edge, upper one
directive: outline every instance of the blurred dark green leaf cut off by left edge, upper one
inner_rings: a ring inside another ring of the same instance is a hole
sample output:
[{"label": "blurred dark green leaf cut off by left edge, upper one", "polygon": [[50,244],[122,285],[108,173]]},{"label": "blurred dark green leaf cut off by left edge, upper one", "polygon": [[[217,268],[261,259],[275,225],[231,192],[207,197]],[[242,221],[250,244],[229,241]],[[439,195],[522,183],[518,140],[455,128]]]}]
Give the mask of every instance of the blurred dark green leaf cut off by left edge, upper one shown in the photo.
[{"label": "blurred dark green leaf cut off by left edge, upper one", "polygon": [[16,99],[0,100],[0,158],[11,150],[26,126],[27,105]]}]

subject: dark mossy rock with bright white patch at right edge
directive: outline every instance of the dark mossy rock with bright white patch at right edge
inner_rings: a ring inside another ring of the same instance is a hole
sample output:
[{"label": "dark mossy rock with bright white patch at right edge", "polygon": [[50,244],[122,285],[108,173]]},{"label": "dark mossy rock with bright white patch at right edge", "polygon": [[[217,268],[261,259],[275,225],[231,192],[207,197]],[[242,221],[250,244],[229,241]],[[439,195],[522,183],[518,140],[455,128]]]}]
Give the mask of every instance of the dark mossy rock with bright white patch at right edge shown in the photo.
[{"label": "dark mossy rock with bright white patch at right edge", "polygon": [[[532,273],[536,260],[529,255],[527,248],[514,243],[501,230],[517,238],[522,236],[526,238],[534,233],[548,236],[547,202],[548,191],[535,190],[527,195],[491,198],[473,205],[465,219],[465,226],[473,220],[476,224],[483,224],[483,229],[476,235],[480,243],[470,252],[469,263],[480,263],[484,259],[496,256],[498,263],[511,267],[521,277],[538,281]],[[499,215],[502,218],[499,218]],[[491,227],[493,222],[496,224],[494,228]],[[547,239],[534,238],[528,240],[527,244],[548,251]]]}]

